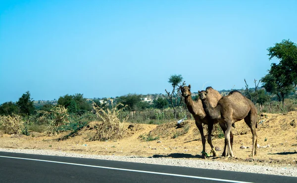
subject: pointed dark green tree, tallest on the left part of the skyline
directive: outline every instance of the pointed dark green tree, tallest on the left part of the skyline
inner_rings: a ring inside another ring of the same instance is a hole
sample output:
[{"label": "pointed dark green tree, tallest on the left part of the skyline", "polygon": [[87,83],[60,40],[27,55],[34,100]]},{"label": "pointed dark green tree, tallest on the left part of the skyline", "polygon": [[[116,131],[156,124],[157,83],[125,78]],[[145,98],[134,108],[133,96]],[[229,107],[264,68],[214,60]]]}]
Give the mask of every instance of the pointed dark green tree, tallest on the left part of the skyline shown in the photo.
[{"label": "pointed dark green tree, tallest on the left part of the skyline", "polygon": [[16,105],[19,107],[20,113],[22,115],[31,115],[35,110],[35,107],[32,99],[30,98],[30,95],[31,95],[30,92],[27,91],[16,102]]}]

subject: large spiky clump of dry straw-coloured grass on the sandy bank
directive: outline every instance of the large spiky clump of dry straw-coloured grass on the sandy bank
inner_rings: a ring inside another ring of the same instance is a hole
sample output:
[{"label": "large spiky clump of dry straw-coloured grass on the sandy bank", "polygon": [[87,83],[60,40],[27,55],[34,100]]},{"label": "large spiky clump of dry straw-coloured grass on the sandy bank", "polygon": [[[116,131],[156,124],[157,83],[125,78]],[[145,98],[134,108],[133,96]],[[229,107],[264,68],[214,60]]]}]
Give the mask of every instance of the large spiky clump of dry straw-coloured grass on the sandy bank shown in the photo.
[{"label": "large spiky clump of dry straw-coloured grass on the sandy bank", "polygon": [[98,106],[94,105],[94,110],[96,111],[97,116],[102,120],[101,123],[95,125],[96,134],[91,138],[93,141],[110,141],[118,140],[123,137],[124,128],[123,122],[126,122],[128,116],[123,117],[122,121],[119,119],[122,111],[125,109],[118,109],[122,104],[118,104],[112,107],[111,110],[103,110]]}]

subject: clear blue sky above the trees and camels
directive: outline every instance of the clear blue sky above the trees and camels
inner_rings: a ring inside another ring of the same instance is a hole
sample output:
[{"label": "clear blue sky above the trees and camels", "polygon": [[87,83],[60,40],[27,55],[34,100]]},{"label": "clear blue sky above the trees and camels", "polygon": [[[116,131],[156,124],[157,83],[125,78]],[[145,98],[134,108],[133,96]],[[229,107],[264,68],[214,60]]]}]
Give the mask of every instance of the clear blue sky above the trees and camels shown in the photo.
[{"label": "clear blue sky above the trees and camels", "polygon": [[[0,104],[243,88],[267,48],[297,43],[296,0],[1,0]],[[235,86],[234,86],[235,85]]]}]

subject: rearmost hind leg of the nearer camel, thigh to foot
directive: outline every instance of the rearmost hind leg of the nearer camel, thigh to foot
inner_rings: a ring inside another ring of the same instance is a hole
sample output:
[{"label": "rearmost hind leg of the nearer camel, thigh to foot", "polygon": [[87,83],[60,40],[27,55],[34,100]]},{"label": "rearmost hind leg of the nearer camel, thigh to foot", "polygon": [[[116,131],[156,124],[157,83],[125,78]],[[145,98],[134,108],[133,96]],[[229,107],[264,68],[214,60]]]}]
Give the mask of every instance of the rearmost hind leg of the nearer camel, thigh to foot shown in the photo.
[{"label": "rearmost hind leg of the nearer camel, thigh to foot", "polygon": [[256,124],[257,124],[257,115],[252,114],[251,112],[245,118],[247,126],[250,128],[252,134],[252,151],[251,156],[256,155],[257,153],[257,134],[256,134]]}]

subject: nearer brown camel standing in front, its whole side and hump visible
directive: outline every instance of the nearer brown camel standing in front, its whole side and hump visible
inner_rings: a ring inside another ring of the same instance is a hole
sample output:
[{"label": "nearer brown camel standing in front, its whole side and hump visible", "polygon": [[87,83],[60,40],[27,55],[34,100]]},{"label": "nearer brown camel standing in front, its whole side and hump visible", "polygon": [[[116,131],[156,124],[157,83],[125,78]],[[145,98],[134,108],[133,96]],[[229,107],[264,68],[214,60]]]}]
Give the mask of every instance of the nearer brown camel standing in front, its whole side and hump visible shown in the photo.
[{"label": "nearer brown camel standing in front, its whole side and hump visible", "polygon": [[[236,121],[245,119],[247,126],[250,128],[252,134],[252,152],[254,156],[257,153],[257,109],[253,103],[243,96],[238,91],[231,91],[227,96],[222,97],[216,107],[211,105],[211,98],[207,90],[212,89],[207,87],[206,91],[199,92],[200,99],[202,101],[203,108],[207,115],[211,119],[218,119],[219,123],[223,123],[227,126],[225,133],[225,142],[228,144],[228,153],[231,157],[234,157],[232,146],[230,144],[231,126]],[[226,149],[224,149],[225,151]],[[226,154],[226,153],[225,153]]]}]

